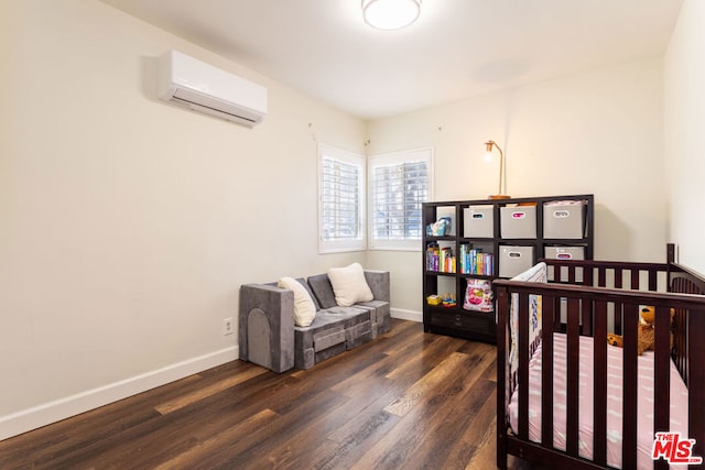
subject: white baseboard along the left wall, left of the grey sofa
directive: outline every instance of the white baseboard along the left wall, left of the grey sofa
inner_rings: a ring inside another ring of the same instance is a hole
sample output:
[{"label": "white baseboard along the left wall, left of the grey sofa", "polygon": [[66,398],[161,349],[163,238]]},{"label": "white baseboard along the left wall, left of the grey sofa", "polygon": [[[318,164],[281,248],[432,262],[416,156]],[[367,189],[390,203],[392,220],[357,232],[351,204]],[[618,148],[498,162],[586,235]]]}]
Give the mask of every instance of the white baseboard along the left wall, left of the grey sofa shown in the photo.
[{"label": "white baseboard along the left wall, left of the grey sofa", "polygon": [[0,440],[127,398],[238,358],[238,347],[234,346],[11,415],[0,416]]}]

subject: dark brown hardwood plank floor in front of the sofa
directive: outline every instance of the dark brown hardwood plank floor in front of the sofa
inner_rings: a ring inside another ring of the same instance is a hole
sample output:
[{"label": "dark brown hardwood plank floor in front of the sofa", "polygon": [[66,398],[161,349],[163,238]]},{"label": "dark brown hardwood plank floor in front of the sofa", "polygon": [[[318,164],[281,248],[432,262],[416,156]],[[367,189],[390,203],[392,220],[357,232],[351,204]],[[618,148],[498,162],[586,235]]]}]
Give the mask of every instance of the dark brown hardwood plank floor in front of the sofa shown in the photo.
[{"label": "dark brown hardwood plank floor in front of the sofa", "polygon": [[495,468],[496,356],[393,320],[308,371],[234,361],[6,439],[0,468]]}]

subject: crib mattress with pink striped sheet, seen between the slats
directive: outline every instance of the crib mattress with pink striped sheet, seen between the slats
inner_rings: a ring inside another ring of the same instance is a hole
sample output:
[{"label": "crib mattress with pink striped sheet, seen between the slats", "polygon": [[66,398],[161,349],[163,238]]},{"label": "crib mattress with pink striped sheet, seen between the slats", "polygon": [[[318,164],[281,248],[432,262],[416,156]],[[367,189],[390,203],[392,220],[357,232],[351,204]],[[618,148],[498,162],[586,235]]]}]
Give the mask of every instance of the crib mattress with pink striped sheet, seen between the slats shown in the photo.
[{"label": "crib mattress with pink striped sheet, seen between the slats", "polygon": [[[621,468],[621,412],[622,412],[622,350],[607,346],[607,464]],[[566,358],[567,339],[564,334],[554,335],[553,446],[565,450],[566,434]],[[581,457],[593,458],[593,339],[581,337],[579,372],[579,431]],[[653,468],[653,351],[647,351],[638,361],[638,442],[639,468]],[[541,348],[529,361],[529,438],[541,441]],[[514,434],[519,418],[518,391],[509,404],[509,420]],[[671,431],[687,436],[687,389],[673,362],[671,362]]]}]

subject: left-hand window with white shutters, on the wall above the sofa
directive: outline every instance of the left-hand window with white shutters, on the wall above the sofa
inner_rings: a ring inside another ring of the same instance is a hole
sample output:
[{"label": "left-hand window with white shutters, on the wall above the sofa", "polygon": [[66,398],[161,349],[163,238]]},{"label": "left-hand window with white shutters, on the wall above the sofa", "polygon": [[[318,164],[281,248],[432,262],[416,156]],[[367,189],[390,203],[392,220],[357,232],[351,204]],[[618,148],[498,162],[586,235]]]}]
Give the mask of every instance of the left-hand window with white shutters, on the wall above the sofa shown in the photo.
[{"label": "left-hand window with white shutters, on the wall above the sofa", "polygon": [[318,251],[365,248],[365,157],[319,144]]}]

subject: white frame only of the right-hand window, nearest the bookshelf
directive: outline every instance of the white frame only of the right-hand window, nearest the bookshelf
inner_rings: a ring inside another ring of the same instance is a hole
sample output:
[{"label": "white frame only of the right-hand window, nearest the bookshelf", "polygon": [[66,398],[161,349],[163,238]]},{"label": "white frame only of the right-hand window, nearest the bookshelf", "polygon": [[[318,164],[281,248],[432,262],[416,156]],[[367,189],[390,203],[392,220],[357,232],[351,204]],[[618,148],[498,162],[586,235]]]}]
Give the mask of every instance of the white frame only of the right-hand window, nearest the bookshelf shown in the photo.
[{"label": "white frame only of the right-hand window, nearest the bookshelf", "polygon": [[[404,238],[404,239],[379,239],[375,237],[375,170],[380,166],[393,166],[405,163],[426,162],[427,165],[427,187],[426,187],[426,200],[433,200],[433,147],[421,147],[412,150],[403,150],[391,153],[382,153],[377,155],[370,155],[367,160],[367,185],[368,185],[368,250],[384,250],[384,251],[421,251],[423,232],[419,238]],[[425,203],[424,201],[424,203]],[[421,230],[423,227],[423,211],[419,208]]]}]

